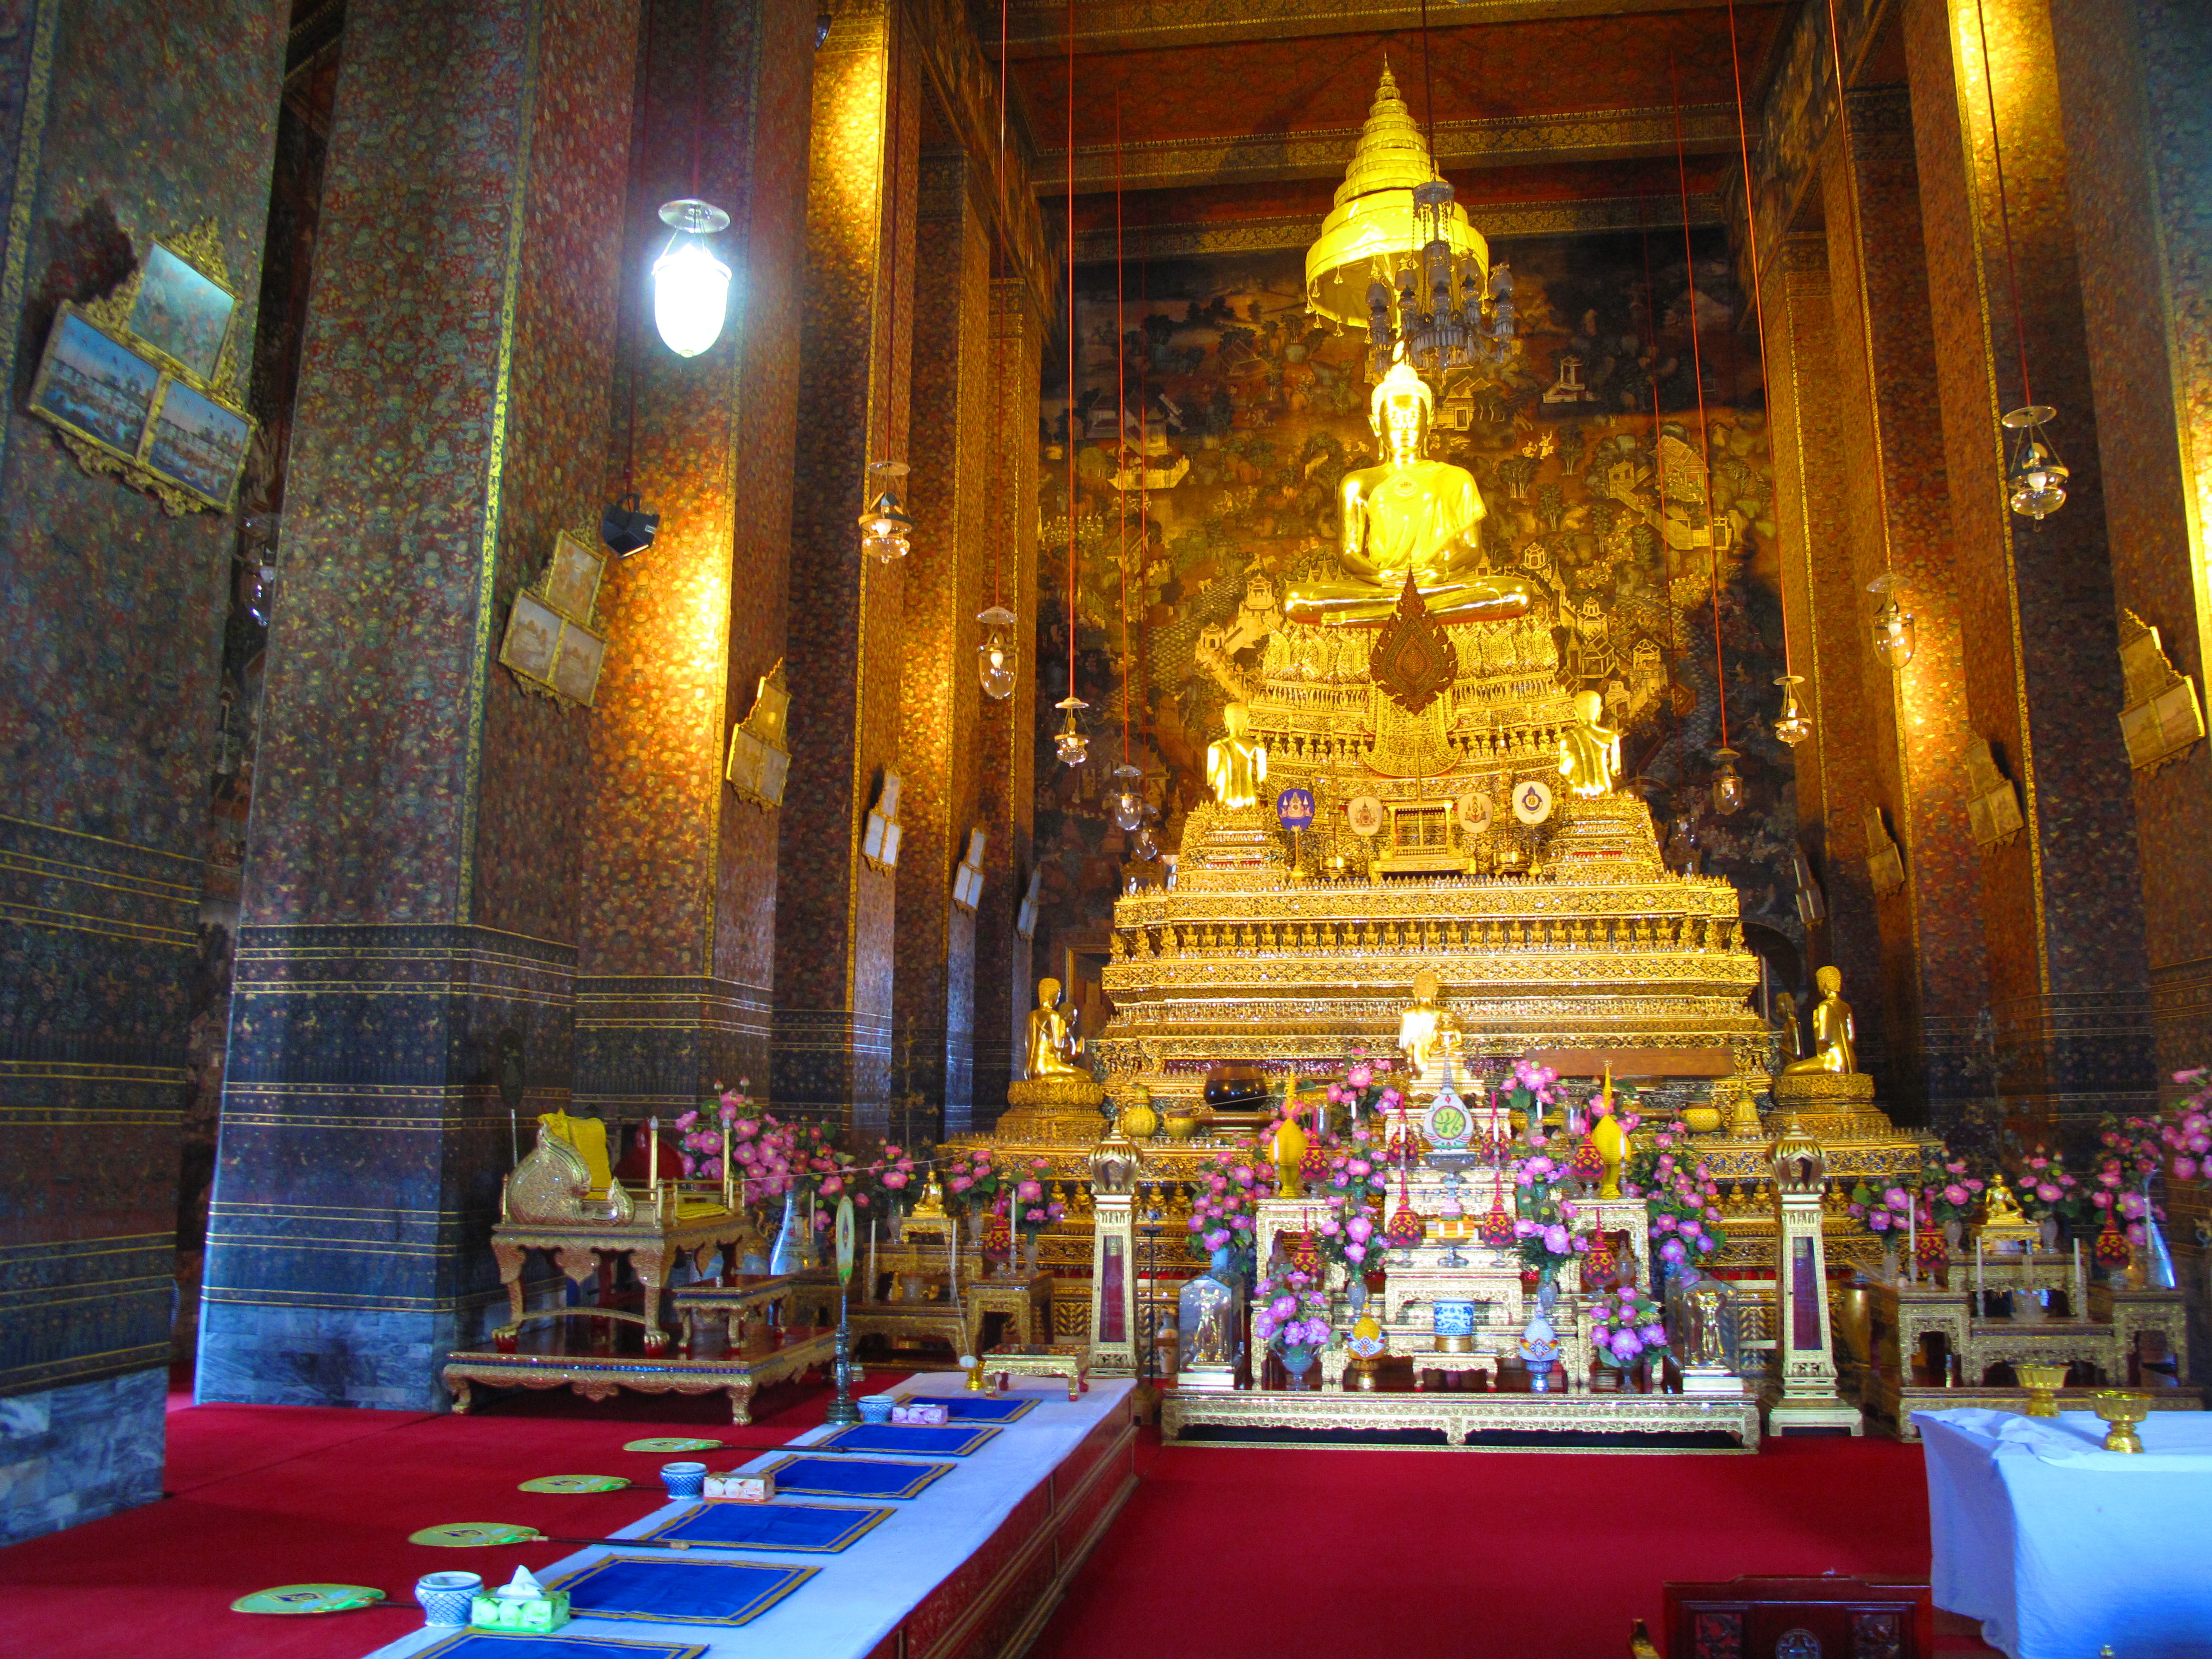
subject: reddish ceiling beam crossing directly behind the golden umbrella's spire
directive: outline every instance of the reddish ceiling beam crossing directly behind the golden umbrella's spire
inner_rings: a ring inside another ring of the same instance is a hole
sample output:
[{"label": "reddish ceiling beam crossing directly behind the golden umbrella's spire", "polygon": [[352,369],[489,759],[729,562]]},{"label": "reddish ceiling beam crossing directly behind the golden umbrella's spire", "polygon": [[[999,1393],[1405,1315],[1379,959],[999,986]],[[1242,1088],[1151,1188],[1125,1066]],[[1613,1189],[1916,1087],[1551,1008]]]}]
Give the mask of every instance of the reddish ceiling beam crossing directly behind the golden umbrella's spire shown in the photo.
[{"label": "reddish ceiling beam crossing directly behind the golden umbrella's spire", "polygon": [[[1124,190],[1168,190],[1343,177],[1358,137],[1356,126],[1327,126],[1252,137],[1146,139],[1121,146],[1119,179]],[[1734,153],[1736,106],[1686,104],[1681,139],[1692,155]],[[1444,170],[1674,155],[1674,111],[1661,106],[1438,122],[1436,155]],[[1066,150],[1037,155],[1040,195],[1066,195]],[[1077,195],[1113,190],[1115,170],[1113,144],[1075,146]]]}]

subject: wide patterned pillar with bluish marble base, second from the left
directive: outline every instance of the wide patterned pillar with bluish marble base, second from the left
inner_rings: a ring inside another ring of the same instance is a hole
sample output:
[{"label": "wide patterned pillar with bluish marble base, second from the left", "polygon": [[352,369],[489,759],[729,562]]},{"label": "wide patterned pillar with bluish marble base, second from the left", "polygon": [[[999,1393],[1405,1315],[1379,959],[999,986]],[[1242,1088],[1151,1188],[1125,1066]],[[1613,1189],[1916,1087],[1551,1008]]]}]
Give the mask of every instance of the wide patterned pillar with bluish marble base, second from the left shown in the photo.
[{"label": "wide patterned pillar with bluish marble base, second from the left", "polygon": [[635,24],[619,0],[347,7],[201,1400],[440,1409],[438,1356],[500,1298],[502,1073],[524,1124],[568,1099],[608,690],[593,573],[553,557],[602,504]]}]

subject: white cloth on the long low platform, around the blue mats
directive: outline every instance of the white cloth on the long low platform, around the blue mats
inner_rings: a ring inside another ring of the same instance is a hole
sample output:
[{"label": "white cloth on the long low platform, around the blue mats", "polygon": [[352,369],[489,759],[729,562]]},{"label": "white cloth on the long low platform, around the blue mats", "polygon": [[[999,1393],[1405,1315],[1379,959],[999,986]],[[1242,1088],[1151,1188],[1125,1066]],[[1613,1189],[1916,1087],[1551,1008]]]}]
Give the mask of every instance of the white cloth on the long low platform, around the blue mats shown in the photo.
[{"label": "white cloth on the long low platform, around the blue mats", "polygon": [[[655,1624],[648,1619],[591,1619],[580,1617],[562,1635],[602,1637],[613,1641],[690,1641],[708,1650],[708,1659],[759,1659],[759,1655],[790,1655],[790,1659],[860,1659],[872,1652],[885,1635],[898,1628],[922,1597],[951,1577],[953,1571],[982,1548],[1000,1522],[1013,1513],[1031,1489],[1044,1480],[1060,1460],[1084,1442],[1102,1418],[1126,1409],[1126,1398],[1135,1383],[1128,1378],[1093,1378],[1091,1391],[1068,1400],[1068,1385],[1055,1376],[1024,1376],[1013,1380],[1011,1396],[1031,1398],[1035,1411],[1009,1422],[982,1451],[967,1458],[894,1458],[894,1462],[949,1462],[953,1471],[931,1482],[920,1498],[905,1502],[845,1502],[838,1498],[805,1498],[807,1504],[836,1504],[841,1509],[891,1509],[891,1520],[876,1526],[849,1548],[836,1555],[792,1555],[779,1551],[690,1551],[703,1559],[754,1559],[818,1566],[821,1573],[807,1579],[796,1593],[772,1606],[752,1624],[739,1628],[717,1628],[703,1624]],[[962,1371],[916,1376],[900,1394],[960,1396],[967,1391]],[[1011,1398],[995,1394],[987,1398]],[[776,1451],[763,1451],[745,1462],[723,1462],[708,1458],[710,1469],[765,1469],[779,1458],[814,1444],[830,1429],[810,1429],[792,1438]],[[874,1453],[869,1453],[874,1455]],[[655,1464],[657,1469],[659,1464]],[[650,1475],[648,1475],[650,1480]],[[690,1504],[661,1504],[650,1515],[624,1526],[613,1537],[637,1537],[655,1522],[684,1513]],[[582,1548],[566,1555],[538,1577],[551,1579],[573,1568],[595,1562],[613,1551],[604,1546]],[[453,1566],[480,1571],[487,1582],[504,1582],[513,1571],[513,1559],[502,1551],[453,1551]],[[411,1586],[409,1586],[411,1588]],[[392,1641],[369,1659],[407,1659],[420,1648],[442,1641],[453,1630],[416,1630]]]}]

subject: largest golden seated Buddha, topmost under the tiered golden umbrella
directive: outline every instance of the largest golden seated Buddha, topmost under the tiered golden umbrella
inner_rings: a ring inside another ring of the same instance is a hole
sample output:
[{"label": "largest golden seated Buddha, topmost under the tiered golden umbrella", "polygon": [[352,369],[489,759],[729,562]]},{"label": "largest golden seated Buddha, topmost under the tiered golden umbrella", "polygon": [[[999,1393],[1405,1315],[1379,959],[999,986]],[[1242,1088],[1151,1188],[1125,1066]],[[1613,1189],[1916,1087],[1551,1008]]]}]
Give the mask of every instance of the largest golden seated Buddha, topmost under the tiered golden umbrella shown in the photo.
[{"label": "largest golden seated Buddha, topmost under the tiered golden umbrella", "polygon": [[1338,487],[1343,575],[1294,584],[1283,608],[1292,622],[1380,622],[1407,573],[1438,622],[1511,622],[1528,611],[1524,582],[1482,573],[1475,476],[1422,458],[1433,416],[1436,394],[1409,365],[1398,363],[1376,385],[1367,425],[1383,440],[1383,460],[1345,473]]}]

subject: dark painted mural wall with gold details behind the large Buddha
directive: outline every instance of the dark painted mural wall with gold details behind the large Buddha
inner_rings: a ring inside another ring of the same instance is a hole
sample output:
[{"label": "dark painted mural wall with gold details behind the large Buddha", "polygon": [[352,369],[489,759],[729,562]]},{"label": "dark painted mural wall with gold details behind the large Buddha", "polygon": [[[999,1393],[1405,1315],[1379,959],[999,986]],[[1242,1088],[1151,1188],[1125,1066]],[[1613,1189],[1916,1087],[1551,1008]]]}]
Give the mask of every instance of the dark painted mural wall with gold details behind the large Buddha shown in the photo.
[{"label": "dark painted mural wall with gold details behind the large Buddha", "polygon": [[[1431,453],[1475,476],[1493,568],[1531,580],[1562,679],[1624,728],[1668,860],[1734,880],[1752,942],[1796,982],[1792,768],[1767,732],[1785,672],[1772,467],[1725,239],[1692,232],[1686,254],[1674,226],[1520,239],[1493,259],[1513,268],[1522,352],[1444,383]],[[1172,847],[1265,617],[1332,560],[1336,484],[1376,458],[1365,341],[1305,314],[1298,250],[1079,268],[1075,325],[1073,409],[1062,343],[1040,420],[1040,973],[1099,940],[1121,885],[1157,878],[1106,812],[1124,723]],[[1051,741],[1071,504],[1084,768]],[[1710,801],[1723,681],[1747,781],[1732,816]]]}]

